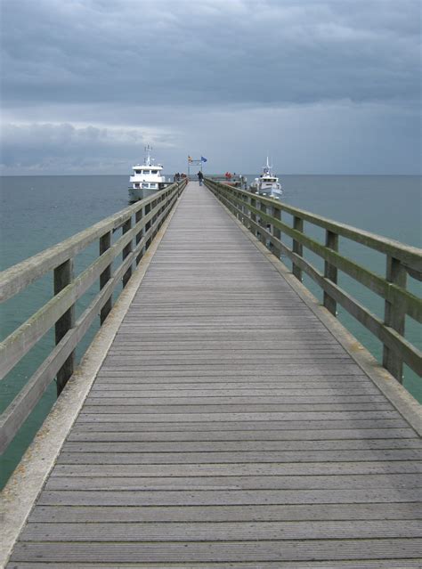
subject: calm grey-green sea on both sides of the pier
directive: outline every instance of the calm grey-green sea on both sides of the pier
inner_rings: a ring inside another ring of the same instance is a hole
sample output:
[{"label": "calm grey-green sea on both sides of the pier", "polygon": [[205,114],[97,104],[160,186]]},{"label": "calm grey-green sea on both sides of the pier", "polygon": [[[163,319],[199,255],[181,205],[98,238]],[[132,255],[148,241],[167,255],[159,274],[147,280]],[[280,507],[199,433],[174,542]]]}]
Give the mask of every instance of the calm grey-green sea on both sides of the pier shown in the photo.
[{"label": "calm grey-green sea on both sides of the pier", "polygon": [[[249,181],[254,177],[255,175],[249,175]],[[421,247],[420,176],[285,175],[280,181],[285,191],[285,201],[290,205]],[[126,175],[15,176],[0,178],[0,183],[1,270],[127,206]],[[316,229],[313,235],[315,239],[323,240],[321,230]],[[385,257],[370,249],[346,241],[343,243],[341,240],[340,252],[353,255],[353,258],[374,272],[385,274]],[[95,246],[79,256],[77,272],[83,270],[97,255]],[[321,267],[321,262],[315,256],[309,254],[308,258]],[[305,278],[304,283],[312,289],[315,296],[321,298],[320,291],[312,281]],[[339,283],[369,306],[373,313],[382,317],[384,303],[376,295],[345,276],[340,276]],[[410,289],[417,291],[417,287],[418,284],[411,280]],[[43,305],[51,297],[52,289],[51,275],[46,275],[23,294],[5,303],[0,313],[2,339]],[[84,310],[95,292],[96,289],[91,289],[85,294],[77,305],[77,313]],[[377,339],[341,308],[338,317],[379,359],[381,345]],[[406,326],[407,337],[420,345],[421,338],[414,322],[408,319]],[[92,329],[86,337],[84,345],[78,351],[79,356],[96,329]],[[51,333],[45,335],[4,379],[0,385],[0,410],[4,410],[12,401],[52,347]],[[419,401],[422,400],[421,382],[408,369],[405,370],[404,385]],[[0,462],[0,486],[10,476],[54,401],[55,385],[52,384],[4,453]]]}]

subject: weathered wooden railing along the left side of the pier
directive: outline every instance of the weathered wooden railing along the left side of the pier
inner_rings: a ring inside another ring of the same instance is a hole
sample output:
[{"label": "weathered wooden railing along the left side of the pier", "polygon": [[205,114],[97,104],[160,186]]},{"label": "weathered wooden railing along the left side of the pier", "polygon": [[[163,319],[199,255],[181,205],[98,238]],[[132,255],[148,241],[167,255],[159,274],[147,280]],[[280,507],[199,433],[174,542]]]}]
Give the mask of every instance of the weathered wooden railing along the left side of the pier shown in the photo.
[{"label": "weathered wooden railing along the left side of the pier", "polygon": [[[4,451],[12,441],[53,378],[57,381],[57,394],[61,393],[75,369],[77,345],[98,315],[102,324],[110,313],[114,290],[120,282],[123,287],[126,286],[133,266],[140,262],[150,247],[185,185],[186,181],[174,183],[166,190],[126,207],[89,229],[0,273],[0,302],[20,293],[47,272],[53,272],[54,291],[49,302],[0,344],[0,379],[50,329],[55,328],[53,351],[28,379],[0,418],[0,451]],[[118,229],[122,230],[122,234],[113,243],[113,232]],[[85,271],[75,276],[75,256],[95,241],[99,243],[98,258]],[[115,262],[120,255],[121,262],[116,267]],[[99,283],[99,293],[84,313],[76,318],[77,300],[95,282]]]}]

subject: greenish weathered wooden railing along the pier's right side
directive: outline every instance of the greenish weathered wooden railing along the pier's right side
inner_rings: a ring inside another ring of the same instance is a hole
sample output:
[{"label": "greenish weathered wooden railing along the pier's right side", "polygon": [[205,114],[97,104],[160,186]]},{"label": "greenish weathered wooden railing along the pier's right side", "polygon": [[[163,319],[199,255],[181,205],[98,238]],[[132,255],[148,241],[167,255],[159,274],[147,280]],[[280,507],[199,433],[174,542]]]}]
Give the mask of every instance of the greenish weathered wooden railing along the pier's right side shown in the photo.
[{"label": "greenish weathered wooden railing along the pier's right side", "polygon": [[[406,315],[418,323],[422,320],[422,301],[407,289],[407,276],[422,280],[422,250],[350,225],[313,215],[290,207],[277,199],[269,199],[249,191],[239,190],[207,178],[209,190],[245,224],[272,253],[288,257],[292,272],[302,280],[305,272],[323,291],[323,305],[337,315],[337,303],[369,329],[383,344],[383,365],[394,378],[402,382],[402,367],[406,363],[422,375],[422,354],[404,337]],[[291,216],[292,224],[281,221],[281,215]],[[325,230],[321,244],[305,234],[304,222]],[[292,240],[292,247],[282,242],[282,234]],[[339,238],[352,240],[385,254],[385,277],[357,264],[338,252]],[[304,258],[304,248],[321,257],[324,271],[320,272]],[[384,320],[349,295],[337,284],[341,271],[385,300]]]}]

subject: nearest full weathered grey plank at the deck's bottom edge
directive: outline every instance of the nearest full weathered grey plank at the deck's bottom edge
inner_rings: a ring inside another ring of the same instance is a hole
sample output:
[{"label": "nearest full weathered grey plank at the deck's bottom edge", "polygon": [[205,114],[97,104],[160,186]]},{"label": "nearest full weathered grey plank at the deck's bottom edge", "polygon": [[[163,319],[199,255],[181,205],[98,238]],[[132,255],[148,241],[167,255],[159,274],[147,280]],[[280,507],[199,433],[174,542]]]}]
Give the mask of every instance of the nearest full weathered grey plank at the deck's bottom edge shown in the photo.
[{"label": "nearest full weathered grey plank at the deck's bottom edge", "polygon": [[[309,541],[222,541],[180,543],[37,543],[19,542],[12,555],[15,561],[70,564],[89,560],[101,563],[222,562],[419,558],[421,539],[309,540]],[[12,565],[11,565],[12,566]]]}]

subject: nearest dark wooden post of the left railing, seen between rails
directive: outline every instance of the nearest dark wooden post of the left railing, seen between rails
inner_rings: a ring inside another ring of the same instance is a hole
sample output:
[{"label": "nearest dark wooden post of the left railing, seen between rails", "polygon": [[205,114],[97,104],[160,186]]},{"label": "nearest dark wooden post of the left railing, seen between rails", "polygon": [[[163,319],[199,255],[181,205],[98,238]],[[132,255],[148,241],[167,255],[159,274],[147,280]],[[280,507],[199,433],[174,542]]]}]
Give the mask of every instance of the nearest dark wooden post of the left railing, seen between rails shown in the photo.
[{"label": "nearest dark wooden post of the left railing, seen between rails", "polygon": [[[54,269],[54,295],[59,294],[73,280],[73,259],[68,259],[63,264]],[[71,305],[61,318],[55,324],[55,342],[59,344],[61,338],[65,336],[69,329],[75,326],[75,305]],[[63,363],[61,369],[57,372],[57,394],[60,395],[63,387],[75,370],[75,352],[69,354],[66,362]]]}]

